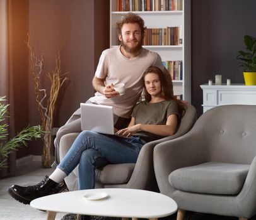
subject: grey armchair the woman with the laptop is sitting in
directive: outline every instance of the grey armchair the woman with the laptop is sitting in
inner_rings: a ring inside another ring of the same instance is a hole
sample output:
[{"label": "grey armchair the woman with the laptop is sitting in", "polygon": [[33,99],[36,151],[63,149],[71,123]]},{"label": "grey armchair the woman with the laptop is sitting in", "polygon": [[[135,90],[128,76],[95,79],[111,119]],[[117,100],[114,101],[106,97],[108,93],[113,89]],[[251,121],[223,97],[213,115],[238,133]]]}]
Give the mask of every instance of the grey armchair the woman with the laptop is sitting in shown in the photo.
[{"label": "grey armchair the woman with the laptop is sitting in", "polygon": [[[135,163],[110,164],[96,170],[95,187],[122,187],[132,189],[158,190],[153,167],[154,146],[163,141],[172,140],[189,131],[196,120],[195,107],[187,104],[187,110],[175,135],[151,141],[143,146]],[[60,142],[60,159],[66,155],[78,133],[62,136]],[[78,167],[66,177],[65,182],[69,190],[78,189]]]}]

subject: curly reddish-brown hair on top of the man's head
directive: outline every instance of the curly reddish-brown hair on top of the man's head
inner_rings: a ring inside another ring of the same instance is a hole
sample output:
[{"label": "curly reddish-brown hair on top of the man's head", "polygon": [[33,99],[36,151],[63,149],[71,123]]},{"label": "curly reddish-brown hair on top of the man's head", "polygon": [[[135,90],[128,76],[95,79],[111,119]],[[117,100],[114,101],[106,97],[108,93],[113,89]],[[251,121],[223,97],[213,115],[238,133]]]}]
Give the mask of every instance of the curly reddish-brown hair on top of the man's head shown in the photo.
[{"label": "curly reddish-brown hair on top of the man's head", "polygon": [[115,24],[115,27],[117,28],[117,31],[119,34],[121,34],[121,29],[124,24],[134,24],[137,23],[139,27],[141,28],[141,35],[144,36],[146,27],[144,26],[144,20],[137,14],[134,13],[128,13],[122,18],[120,21],[117,21]]}]

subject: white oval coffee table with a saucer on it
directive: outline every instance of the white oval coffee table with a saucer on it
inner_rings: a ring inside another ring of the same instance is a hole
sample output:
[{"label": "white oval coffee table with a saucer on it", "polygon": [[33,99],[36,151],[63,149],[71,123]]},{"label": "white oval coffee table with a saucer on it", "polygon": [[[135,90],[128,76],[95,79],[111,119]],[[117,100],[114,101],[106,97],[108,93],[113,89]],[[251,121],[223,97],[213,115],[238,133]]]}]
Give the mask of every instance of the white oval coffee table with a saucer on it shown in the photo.
[{"label": "white oval coffee table with a saucer on it", "polygon": [[[103,199],[89,200],[90,198],[84,197],[89,193],[108,196]],[[64,192],[35,199],[30,202],[30,206],[48,211],[48,220],[55,219],[56,212],[155,220],[158,217],[170,216],[177,211],[177,204],[170,197],[137,189],[90,189]]]}]

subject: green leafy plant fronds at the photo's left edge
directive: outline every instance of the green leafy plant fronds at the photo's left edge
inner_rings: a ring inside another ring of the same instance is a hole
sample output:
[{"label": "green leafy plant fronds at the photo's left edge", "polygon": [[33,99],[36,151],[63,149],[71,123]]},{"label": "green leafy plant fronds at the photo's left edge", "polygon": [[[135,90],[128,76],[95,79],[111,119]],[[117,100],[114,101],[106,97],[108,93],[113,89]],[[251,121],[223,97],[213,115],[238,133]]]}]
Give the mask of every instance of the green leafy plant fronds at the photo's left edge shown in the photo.
[{"label": "green leafy plant fronds at the photo's left edge", "polygon": [[4,119],[9,117],[9,104],[4,104],[4,101],[6,101],[5,96],[0,96],[0,122],[3,122],[0,124],[0,170],[7,167],[7,157],[11,151],[26,146],[26,142],[32,140],[32,138],[37,139],[44,135],[42,126],[27,126],[14,138],[9,138],[9,140],[6,141],[9,135],[9,124],[4,123]]}]

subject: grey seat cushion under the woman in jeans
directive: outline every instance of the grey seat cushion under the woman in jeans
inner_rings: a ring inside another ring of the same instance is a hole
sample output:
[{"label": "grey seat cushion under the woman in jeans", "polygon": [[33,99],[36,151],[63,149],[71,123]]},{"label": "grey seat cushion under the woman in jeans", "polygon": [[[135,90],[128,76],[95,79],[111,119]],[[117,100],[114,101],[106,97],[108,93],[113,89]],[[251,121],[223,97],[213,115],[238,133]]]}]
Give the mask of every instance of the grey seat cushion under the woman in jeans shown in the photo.
[{"label": "grey seat cushion under the woman in jeans", "polygon": [[135,163],[110,164],[96,170],[96,181],[102,184],[126,184],[131,178]]}]

